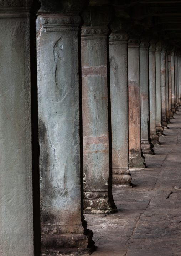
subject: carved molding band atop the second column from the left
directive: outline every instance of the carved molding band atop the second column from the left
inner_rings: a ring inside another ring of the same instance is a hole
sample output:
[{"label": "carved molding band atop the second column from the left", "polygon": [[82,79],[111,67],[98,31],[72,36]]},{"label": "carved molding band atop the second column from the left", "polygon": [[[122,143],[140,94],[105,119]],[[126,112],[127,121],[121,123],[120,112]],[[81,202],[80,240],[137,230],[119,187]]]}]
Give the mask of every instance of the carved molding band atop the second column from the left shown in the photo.
[{"label": "carved molding band atop the second column from the left", "polygon": [[40,15],[39,18],[47,32],[78,30],[81,22],[78,15],[46,14]]}]

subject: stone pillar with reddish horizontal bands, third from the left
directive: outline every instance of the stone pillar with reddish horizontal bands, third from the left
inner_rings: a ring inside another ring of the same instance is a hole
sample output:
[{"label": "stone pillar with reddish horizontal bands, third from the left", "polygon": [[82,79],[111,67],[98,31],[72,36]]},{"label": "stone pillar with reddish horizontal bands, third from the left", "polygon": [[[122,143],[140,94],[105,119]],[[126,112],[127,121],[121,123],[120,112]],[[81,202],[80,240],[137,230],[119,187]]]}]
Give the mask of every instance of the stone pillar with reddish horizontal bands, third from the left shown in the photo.
[{"label": "stone pillar with reddish horizontal bands, third from the left", "polygon": [[110,8],[103,6],[90,6],[82,14],[85,213],[107,213],[116,209],[111,194],[112,170],[109,166],[108,137],[107,24],[111,16]]}]

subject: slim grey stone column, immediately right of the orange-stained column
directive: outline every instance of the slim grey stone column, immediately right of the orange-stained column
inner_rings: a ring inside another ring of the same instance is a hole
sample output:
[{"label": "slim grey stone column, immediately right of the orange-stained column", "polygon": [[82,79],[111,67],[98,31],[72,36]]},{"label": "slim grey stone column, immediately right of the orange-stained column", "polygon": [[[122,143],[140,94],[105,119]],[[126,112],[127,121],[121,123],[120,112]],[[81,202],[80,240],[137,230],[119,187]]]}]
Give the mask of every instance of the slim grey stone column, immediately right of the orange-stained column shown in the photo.
[{"label": "slim grey stone column, immediately right of the orange-stained column", "polygon": [[154,154],[150,140],[149,118],[149,75],[148,75],[148,47],[144,40],[140,43],[140,112],[141,112],[141,150],[143,154]]}]

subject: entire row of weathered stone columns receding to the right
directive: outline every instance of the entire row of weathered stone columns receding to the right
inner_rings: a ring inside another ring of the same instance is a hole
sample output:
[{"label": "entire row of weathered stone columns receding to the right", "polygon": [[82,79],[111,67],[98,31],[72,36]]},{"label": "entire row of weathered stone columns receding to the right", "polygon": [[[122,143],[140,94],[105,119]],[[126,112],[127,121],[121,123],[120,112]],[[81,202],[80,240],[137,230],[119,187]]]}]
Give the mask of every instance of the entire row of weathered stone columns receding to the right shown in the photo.
[{"label": "entire row of weathered stone columns receding to the right", "polygon": [[[110,34],[106,6],[83,11],[80,29],[83,5],[42,1],[36,19],[42,255],[92,250],[83,210],[116,211],[112,186],[145,167],[181,103],[179,51],[118,17]],[[29,9],[1,7],[2,255],[32,256]]]}]

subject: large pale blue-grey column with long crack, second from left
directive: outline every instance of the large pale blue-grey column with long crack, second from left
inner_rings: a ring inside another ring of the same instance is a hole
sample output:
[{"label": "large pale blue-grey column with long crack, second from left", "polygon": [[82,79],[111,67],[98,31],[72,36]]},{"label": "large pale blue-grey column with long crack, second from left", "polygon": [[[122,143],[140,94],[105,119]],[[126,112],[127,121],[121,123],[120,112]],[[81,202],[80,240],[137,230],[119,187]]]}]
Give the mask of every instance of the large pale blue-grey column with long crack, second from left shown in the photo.
[{"label": "large pale blue-grey column with long crack, second from left", "polygon": [[36,20],[41,255],[93,245],[81,204],[77,13],[82,4],[42,1]]}]

